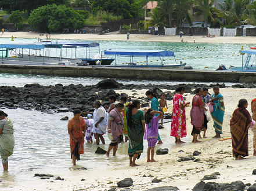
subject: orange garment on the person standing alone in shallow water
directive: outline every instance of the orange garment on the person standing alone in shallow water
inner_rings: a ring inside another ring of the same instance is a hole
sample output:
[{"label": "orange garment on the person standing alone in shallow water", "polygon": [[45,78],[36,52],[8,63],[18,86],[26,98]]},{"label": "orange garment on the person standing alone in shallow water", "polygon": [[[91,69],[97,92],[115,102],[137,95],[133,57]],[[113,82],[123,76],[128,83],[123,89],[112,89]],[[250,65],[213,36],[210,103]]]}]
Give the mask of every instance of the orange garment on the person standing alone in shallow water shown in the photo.
[{"label": "orange garment on the person standing alone in shallow water", "polygon": [[78,142],[75,143],[75,141],[70,137],[71,158],[72,153],[74,152],[73,155],[77,157],[77,160],[80,160],[80,155],[84,154],[84,126],[85,120],[83,117],[80,117],[77,122],[74,118],[68,121],[68,128],[71,128],[73,136],[78,140]]}]

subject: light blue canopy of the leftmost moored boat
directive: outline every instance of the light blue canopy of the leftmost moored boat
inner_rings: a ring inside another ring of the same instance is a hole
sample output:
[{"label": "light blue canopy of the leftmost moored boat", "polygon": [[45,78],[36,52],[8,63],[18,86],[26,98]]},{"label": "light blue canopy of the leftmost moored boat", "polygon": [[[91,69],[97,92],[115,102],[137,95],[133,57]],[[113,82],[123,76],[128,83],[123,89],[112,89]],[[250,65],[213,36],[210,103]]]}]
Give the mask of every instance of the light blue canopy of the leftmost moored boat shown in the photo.
[{"label": "light blue canopy of the leftmost moored boat", "polygon": [[62,45],[39,45],[39,44],[24,44],[24,43],[0,44],[0,48],[2,49],[45,49],[46,47],[61,48]]}]

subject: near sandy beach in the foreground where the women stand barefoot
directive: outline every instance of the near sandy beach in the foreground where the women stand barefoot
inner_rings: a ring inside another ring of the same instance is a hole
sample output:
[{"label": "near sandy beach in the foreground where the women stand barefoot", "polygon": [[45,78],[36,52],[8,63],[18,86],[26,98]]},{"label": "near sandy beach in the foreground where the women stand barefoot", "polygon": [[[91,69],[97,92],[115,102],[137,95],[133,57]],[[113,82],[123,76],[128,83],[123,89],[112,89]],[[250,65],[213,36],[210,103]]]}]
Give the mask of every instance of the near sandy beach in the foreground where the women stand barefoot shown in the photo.
[{"label": "near sandy beach in the foreground where the women stand barefoot", "polygon": [[[137,90],[136,93],[138,95],[134,96],[137,98],[145,97],[145,91],[146,90]],[[117,91],[117,93],[121,92],[129,95],[134,94],[134,92],[128,90]],[[249,102],[248,111],[251,113],[250,102],[255,97],[255,89],[225,88],[221,89],[220,92],[224,97],[226,107],[222,137],[230,138],[229,120],[238,101],[240,98],[246,98]],[[213,91],[210,90],[210,93],[213,93]],[[192,101],[193,95],[185,94],[185,97],[187,101]],[[168,101],[168,105],[168,112],[171,112],[172,101]],[[252,175],[252,172],[255,167],[256,157],[253,156],[253,133],[251,130],[248,131],[250,156],[245,160],[234,160],[230,139],[219,141],[218,139],[211,138],[215,135],[212,120],[208,123],[208,138],[201,139],[202,142],[199,144],[191,143],[192,136],[190,133],[192,126],[190,124],[190,109],[190,107],[186,108],[188,136],[183,139],[183,141],[187,143],[175,145],[174,137],[170,137],[171,124],[166,123],[164,125],[165,128],[160,130],[164,144],[161,146],[158,145],[157,148],[168,148],[169,153],[168,155],[156,155],[155,159],[158,160],[156,163],[146,163],[144,158],[138,160],[139,167],[129,167],[127,156],[127,164],[122,166],[109,166],[109,168],[102,171],[95,171],[93,169],[82,172],[78,171],[74,172],[71,176],[57,174],[64,178],[64,181],[51,182],[43,180],[33,185],[24,185],[20,182],[17,186],[10,188],[10,190],[109,190],[111,188],[117,188],[117,182],[124,178],[133,179],[134,185],[130,187],[132,190],[147,190],[158,186],[177,186],[179,190],[192,190],[194,185],[200,182],[200,179],[202,179],[204,175],[210,175],[212,172],[219,172],[221,175],[218,176],[218,179],[211,180],[210,182],[230,183],[232,181],[243,181],[244,183],[251,183],[253,185],[255,175]],[[171,144],[167,144],[165,140],[170,139]],[[144,144],[146,144],[146,142]],[[178,152],[179,150],[183,150],[184,152]],[[178,162],[179,156],[192,156],[194,150],[201,152],[201,155],[196,156],[196,159],[200,159],[199,162],[194,162],[193,160]],[[146,150],[144,150],[142,155],[146,155]],[[118,156],[110,156],[109,160],[116,161],[118,160]],[[144,178],[143,175],[147,177]],[[149,175],[150,177],[148,177]],[[84,178],[85,181],[81,181],[82,178]],[[161,179],[162,182],[151,183],[153,178]],[[117,190],[120,189],[117,188]]]}]

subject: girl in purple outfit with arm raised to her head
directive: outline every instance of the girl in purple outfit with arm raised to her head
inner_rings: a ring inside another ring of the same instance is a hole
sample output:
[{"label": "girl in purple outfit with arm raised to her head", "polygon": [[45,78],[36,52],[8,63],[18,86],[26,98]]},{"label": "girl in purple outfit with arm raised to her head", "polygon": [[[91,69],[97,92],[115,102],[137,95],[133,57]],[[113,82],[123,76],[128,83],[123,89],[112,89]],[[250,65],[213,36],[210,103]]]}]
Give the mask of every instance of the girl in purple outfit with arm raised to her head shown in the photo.
[{"label": "girl in purple outfit with arm raised to her head", "polygon": [[[158,116],[156,117],[156,114]],[[156,162],[154,160],[154,147],[157,143],[158,137],[158,121],[164,115],[163,112],[154,111],[153,109],[147,109],[145,113],[145,137],[144,139],[147,140],[148,148],[147,148],[147,163],[149,162]],[[151,159],[150,159],[150,152],[151,152]]]}]

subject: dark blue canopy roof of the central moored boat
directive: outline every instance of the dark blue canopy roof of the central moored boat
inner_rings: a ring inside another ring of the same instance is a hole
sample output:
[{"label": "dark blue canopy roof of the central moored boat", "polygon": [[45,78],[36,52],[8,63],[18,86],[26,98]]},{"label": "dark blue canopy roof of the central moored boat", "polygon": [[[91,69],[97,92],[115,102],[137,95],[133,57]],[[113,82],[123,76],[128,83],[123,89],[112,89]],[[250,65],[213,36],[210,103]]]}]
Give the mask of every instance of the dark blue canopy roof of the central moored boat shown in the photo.
[{"label": "dark blue canopy roof of the central moored boat", "polygon": [[104,50],[105,55],[117,56],[153,56],[153,57],[168,57],[174,56],[174,52],[167,50]]}]

